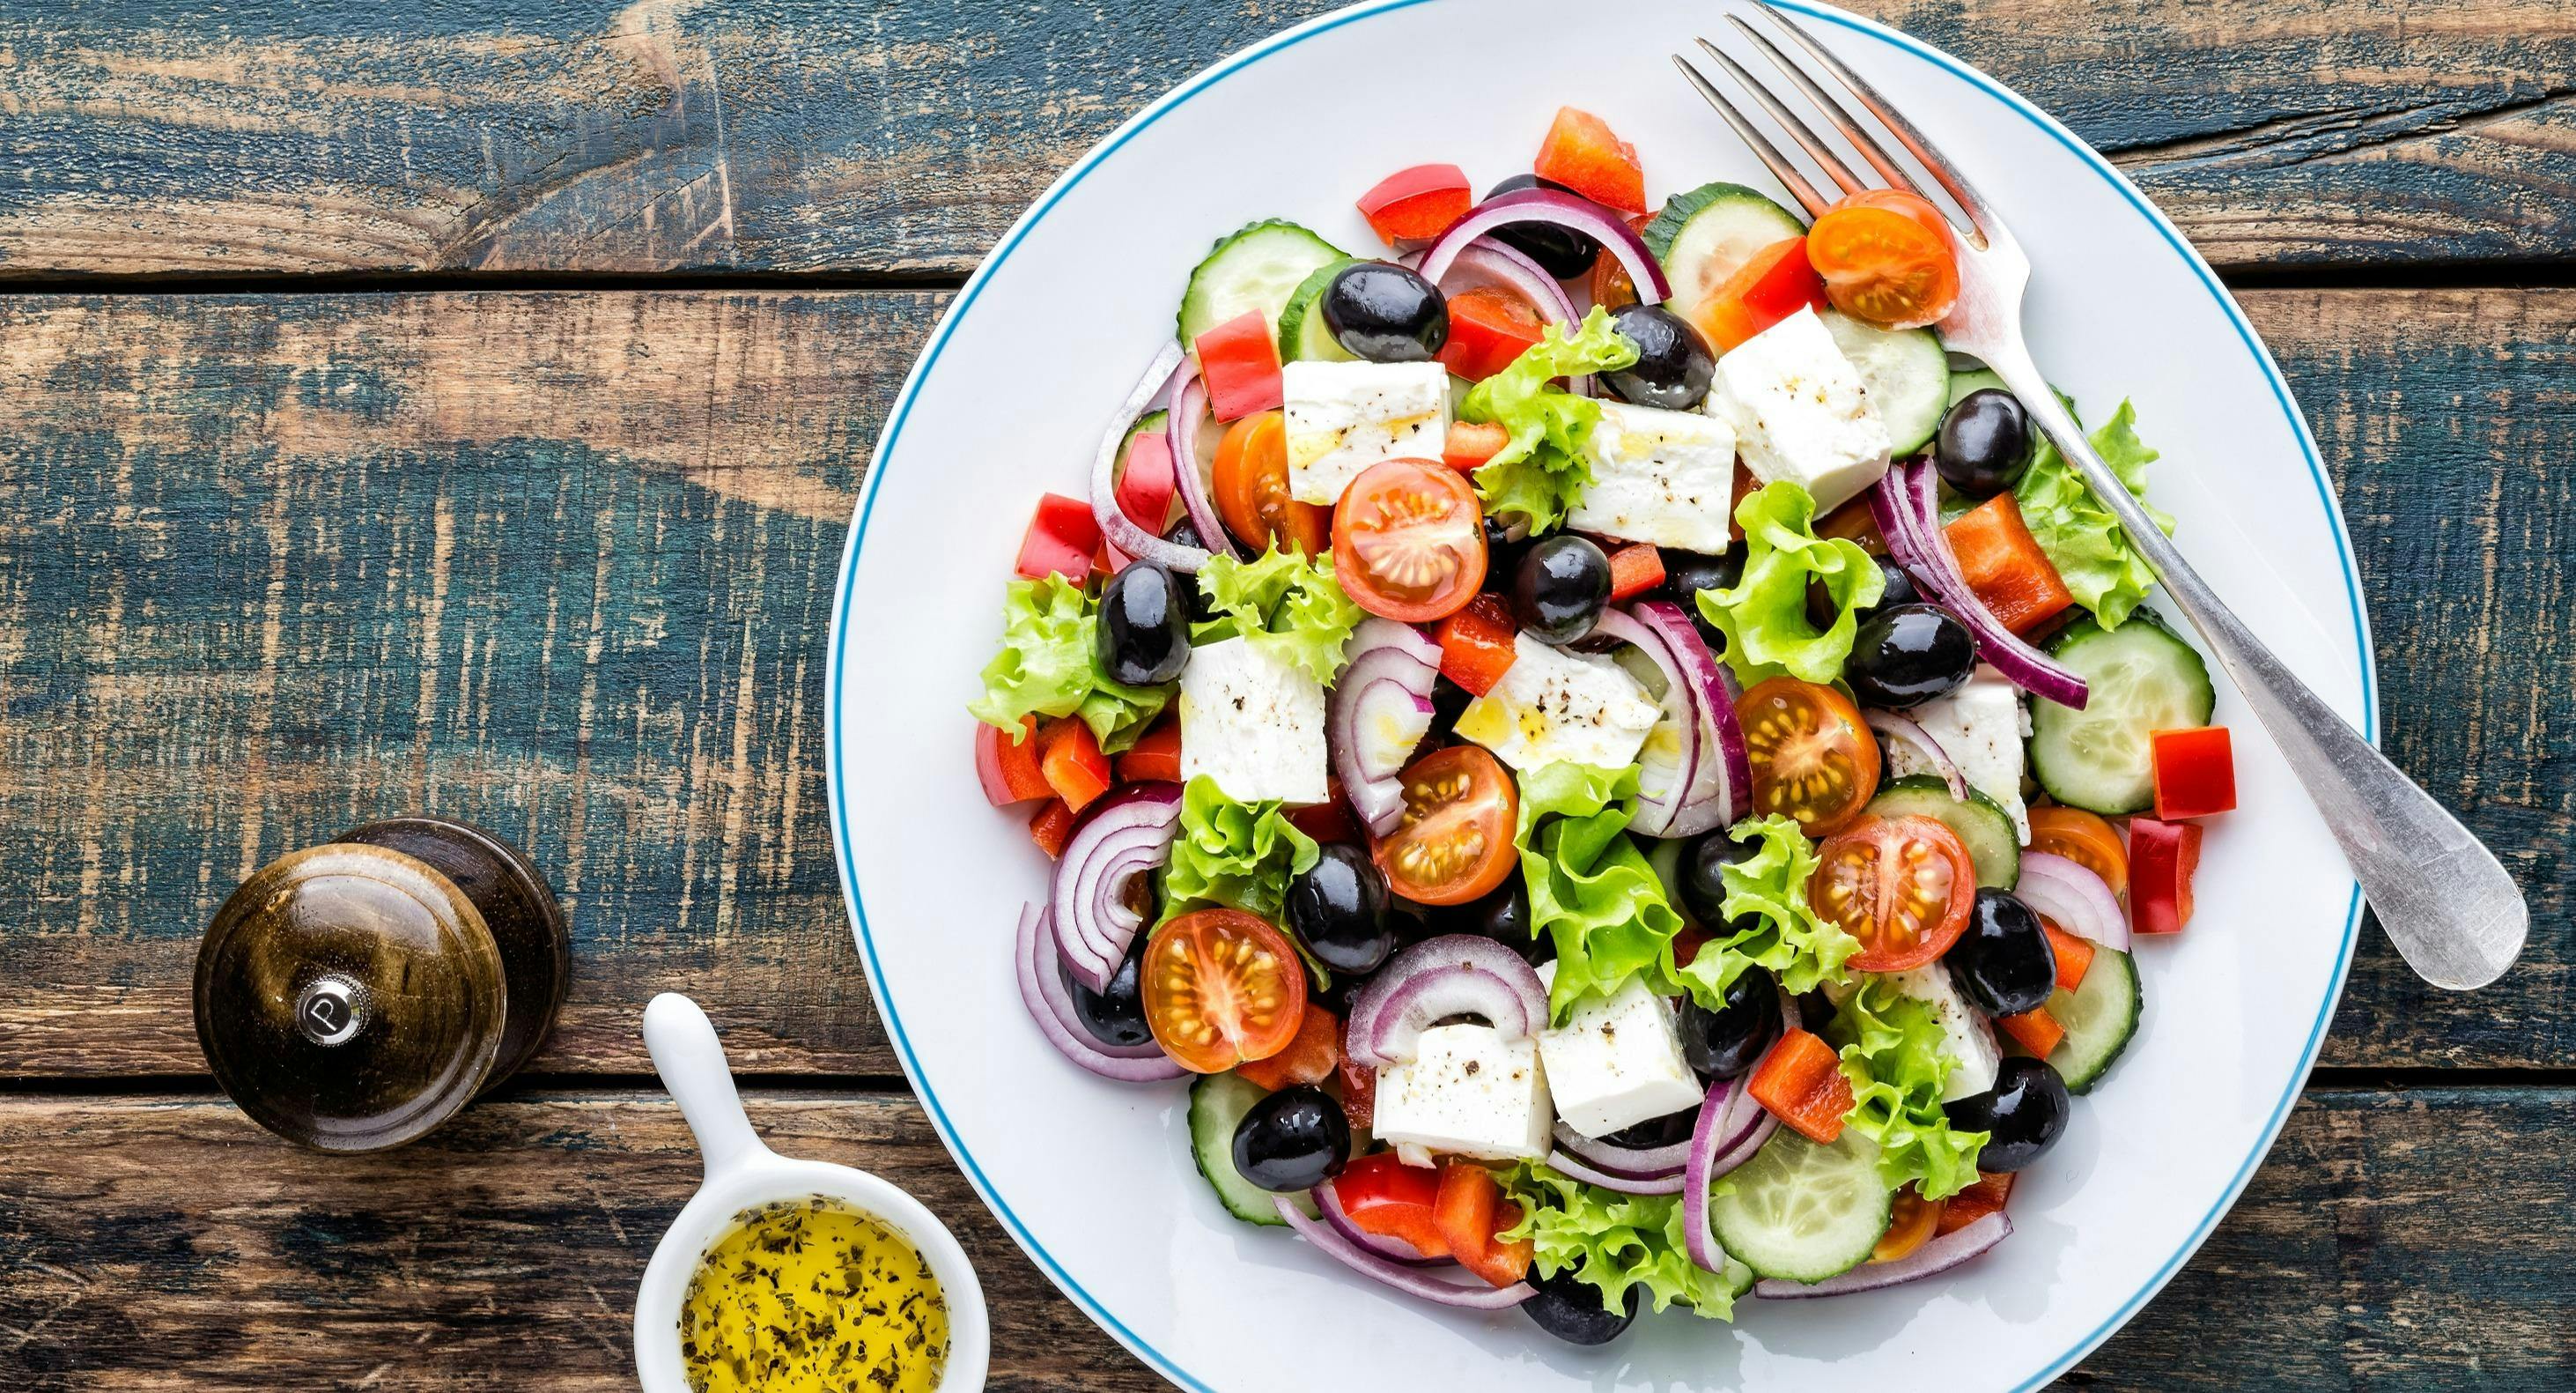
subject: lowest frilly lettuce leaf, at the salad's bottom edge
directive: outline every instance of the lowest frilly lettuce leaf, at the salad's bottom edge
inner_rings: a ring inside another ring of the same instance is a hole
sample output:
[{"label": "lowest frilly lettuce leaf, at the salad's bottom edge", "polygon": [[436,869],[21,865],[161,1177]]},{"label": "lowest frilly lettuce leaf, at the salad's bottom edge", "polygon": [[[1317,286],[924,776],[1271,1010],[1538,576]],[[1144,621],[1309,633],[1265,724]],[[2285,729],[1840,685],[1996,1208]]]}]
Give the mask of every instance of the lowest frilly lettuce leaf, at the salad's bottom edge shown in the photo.
[{"label": "lowest frilly lettuce leaf, at the salad's bottom edge", "polygon": [[1736,1293],[1752,1285],[1752,1272],[1734,1259],[1726,1259],[1728,1275],[1690,1262],[1680,1195],[1620,1195],[1530,1161],[1504,1172],[1502,1187],[1520,1205],[1520,1223],[1499,1239],[1530,1239],[1540,1277],[1571,1267],[1600,1287],[1605,1311],[1625,1311],[1628,1287],[1643,1285],[1656,1311],[1685,1303],[1710,1321],[1731,1321]]}]

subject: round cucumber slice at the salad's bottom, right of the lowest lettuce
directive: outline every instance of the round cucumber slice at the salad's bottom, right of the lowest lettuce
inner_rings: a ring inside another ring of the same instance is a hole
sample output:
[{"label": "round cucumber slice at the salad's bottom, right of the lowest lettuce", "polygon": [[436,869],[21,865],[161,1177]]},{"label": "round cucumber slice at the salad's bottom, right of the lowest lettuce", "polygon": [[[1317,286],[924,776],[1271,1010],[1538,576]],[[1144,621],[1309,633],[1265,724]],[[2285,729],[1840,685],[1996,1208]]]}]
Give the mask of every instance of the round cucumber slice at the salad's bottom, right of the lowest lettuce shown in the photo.
[{"label": "round cucumber slice at the salad's bottom, right of the lowest lettuce", "polygon": [[1780,1128],[1708,1202],[1708,1226],[1736,1262],[1793,1282],[1868,1262],[1891,1215],[1878,1146],[1852,1128],[1834,1146]]}]

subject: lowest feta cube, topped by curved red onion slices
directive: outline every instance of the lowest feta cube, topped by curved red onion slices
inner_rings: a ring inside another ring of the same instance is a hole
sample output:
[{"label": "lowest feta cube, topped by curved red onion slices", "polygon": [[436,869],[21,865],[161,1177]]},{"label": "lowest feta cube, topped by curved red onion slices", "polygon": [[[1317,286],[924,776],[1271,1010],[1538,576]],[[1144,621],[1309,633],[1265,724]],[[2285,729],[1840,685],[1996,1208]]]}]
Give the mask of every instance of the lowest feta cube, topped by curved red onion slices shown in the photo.
[{"label": "lowest feta cube, topped by curved red onion slices", "polygon": [[1412,1063],[1378,1069],[1368,1130],[1406,1164],[1435,1151],[1535,1161],[1548,1154],[1553,1117],[1535,1040],[1504,1040],[1492,1025],[1435,1025]]}]

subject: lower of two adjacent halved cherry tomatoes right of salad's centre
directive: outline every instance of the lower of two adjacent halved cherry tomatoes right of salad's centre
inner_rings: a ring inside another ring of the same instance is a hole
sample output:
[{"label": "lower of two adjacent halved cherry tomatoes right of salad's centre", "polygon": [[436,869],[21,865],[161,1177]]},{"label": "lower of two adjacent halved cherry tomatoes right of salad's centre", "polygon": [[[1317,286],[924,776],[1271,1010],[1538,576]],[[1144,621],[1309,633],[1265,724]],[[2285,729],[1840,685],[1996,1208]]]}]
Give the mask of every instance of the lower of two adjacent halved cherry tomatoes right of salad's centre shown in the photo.
[{"label": "lower of two adjacent halved cherry tomatoes right of salad's centre", "polygon": [[1968,930],[1976,863],[1927,816],[1865,816],[1816,850],[1806,901],[1860,940],[1852,966],[1901,973],[1940,958]]}]

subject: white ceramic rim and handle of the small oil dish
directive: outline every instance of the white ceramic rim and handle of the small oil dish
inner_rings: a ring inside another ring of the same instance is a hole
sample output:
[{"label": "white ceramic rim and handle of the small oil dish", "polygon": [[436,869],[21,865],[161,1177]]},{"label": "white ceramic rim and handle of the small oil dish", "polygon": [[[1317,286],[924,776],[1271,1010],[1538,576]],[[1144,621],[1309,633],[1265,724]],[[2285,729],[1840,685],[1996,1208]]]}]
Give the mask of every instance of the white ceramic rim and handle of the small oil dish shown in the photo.
[{"label": "white ceramic rim and handle of the small oil dish", "polygon": [[755,1205],[814,1197],[842,1200],[912,1239],[930,1262],[940,1295],[948,1298],[948,1365],[940,1393],[984,1388],[984,1367],[992,1360],[984,1285],[976,1282],[966,1249],[948,1226],[920,1200],[868,1172],[793,1161],[762,1146],[742,1112],[716,1027],[698,1002],[672,991],[654,996],[644,1007],[644,1048],[652,1051],[652,1066],[688,1117],[688,1130],[706,1159],[698,1195],[662,1233],[636,1290],[636,1380],[644,1393],[688,1393],[688,1372],[680,1365],[680,1300],[698,1259],[734,1226],[734,1215]]}]

